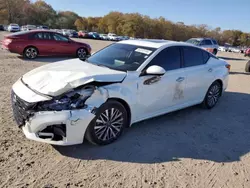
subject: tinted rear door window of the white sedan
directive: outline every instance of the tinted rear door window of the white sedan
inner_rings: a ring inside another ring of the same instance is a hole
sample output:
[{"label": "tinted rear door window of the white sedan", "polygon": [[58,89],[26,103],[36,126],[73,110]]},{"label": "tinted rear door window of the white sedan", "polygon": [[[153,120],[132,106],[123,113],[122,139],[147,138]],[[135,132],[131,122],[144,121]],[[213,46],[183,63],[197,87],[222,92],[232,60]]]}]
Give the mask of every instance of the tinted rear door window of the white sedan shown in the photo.
[{"label": "tinted rear door window of the white sedan", "polygon": [[204,64],[203,50],[194,47],[183,47],[185,67],[192,67]]}]

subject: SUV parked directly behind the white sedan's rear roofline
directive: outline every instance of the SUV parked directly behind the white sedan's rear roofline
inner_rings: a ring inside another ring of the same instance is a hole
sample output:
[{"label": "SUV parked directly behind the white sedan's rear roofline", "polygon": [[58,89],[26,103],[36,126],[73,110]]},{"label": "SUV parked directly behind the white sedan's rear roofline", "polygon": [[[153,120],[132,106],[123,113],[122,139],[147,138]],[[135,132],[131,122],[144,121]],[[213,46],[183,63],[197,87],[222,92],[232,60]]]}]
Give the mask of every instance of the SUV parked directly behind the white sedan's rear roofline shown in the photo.
[{"label": "SUV parked directly behind the white sedan's rear roofline", "polygon": [[191,38],[186,42],[199,46],[210,53],[213,53],[214,55],[217,54],[219,48],[217,41],[212,38]]}]

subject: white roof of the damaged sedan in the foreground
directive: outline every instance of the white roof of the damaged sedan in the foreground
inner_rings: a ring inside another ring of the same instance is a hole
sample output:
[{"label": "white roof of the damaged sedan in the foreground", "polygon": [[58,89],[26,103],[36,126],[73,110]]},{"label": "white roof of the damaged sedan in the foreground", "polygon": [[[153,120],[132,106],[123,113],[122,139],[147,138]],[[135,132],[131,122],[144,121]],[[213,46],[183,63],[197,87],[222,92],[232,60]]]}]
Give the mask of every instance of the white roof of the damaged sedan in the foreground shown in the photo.
[{"label": "white roof of the damaged sedan in the foreground", "polygon": [[150,48],[160,48],[162,46],[194,46],[186,42],[177,42],[170,40],[159,40],[159,39],[136,39],[136,40],[125,40],[120,41],[121,44],[131,44],[136,46],[144,46]]}]

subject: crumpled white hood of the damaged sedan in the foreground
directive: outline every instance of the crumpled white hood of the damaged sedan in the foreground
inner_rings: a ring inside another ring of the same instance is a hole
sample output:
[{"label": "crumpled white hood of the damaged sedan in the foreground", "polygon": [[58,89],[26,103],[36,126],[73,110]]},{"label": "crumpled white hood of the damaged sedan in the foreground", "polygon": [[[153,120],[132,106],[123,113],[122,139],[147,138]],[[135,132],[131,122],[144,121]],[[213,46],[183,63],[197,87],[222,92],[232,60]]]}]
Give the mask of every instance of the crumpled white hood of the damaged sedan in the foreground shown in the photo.
[{"label": "crumpled white hood of the damaged sedan in the foreground", "polygon": [[65,60],[36,68],[22,77],[30,89],[49,96],[61,95],[90,82],[121,82],[126,73],[80,59]]}]

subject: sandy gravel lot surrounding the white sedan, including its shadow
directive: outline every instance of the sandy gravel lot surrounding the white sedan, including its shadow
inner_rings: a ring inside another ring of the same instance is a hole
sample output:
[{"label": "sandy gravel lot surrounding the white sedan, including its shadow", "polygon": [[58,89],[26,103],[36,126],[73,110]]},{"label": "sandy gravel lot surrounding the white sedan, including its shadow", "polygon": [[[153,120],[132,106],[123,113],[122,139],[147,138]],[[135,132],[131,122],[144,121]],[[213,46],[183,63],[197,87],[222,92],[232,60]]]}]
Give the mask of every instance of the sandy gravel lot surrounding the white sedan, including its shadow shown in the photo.
[{"label": "sandy gravel lot surrounding the white sedan, including its shadow", "polygon": [[[93,51],[110,43],[81,41]],[[137,123],[104,147],[53,147],[24,137],[12,117],[10,90],[27,71],[67,58],[27,61],[0,50],[0,187],[250,187],[247,59],[218,56],[232,72],[213,110],[196,106]]]}]

